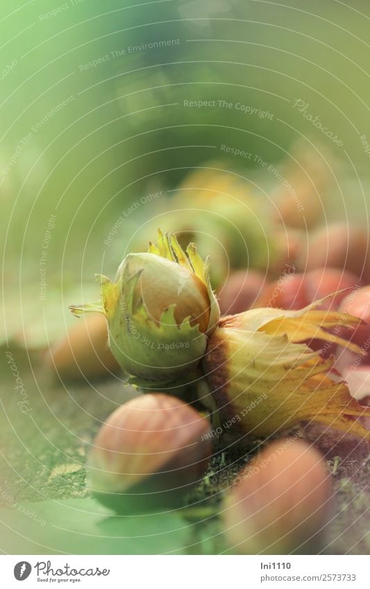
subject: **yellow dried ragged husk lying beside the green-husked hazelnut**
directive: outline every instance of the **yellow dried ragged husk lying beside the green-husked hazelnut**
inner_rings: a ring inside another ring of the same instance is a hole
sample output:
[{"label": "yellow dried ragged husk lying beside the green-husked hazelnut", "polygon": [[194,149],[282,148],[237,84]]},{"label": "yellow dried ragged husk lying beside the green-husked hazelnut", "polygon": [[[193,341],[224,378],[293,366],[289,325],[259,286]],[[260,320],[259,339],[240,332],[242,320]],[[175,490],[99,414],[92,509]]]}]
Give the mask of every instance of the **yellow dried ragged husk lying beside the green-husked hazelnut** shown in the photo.
[{"label": "yellow dried ragged husk lying beside the green-husked hazelnut", "polygon": [[300,311],[253,309],[221,319],[202,362],[221,428],[233,422],[241,436],[271,436],[304,420],[369,438],[355,418],[370,416],[370,409],[351,397],[345,382],[328,375],[332,357],[323,359],[302,343],[331,339],[362,353],[325,331],[335,325],[353,328],[361,320],[314,310],[322,302]]}]

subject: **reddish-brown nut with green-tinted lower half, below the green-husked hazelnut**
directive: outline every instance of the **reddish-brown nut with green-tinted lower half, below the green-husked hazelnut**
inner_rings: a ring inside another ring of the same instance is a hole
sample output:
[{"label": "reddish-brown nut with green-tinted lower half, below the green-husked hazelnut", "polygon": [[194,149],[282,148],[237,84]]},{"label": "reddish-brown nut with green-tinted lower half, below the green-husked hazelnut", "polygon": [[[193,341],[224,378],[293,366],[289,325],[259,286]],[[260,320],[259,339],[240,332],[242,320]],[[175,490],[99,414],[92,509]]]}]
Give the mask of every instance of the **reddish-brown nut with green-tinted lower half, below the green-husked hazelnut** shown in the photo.
[{"label": "reddish-brown nut with green-tinted lower half, below the green-husked hazelnut", "polygon": [[119,513],[179,506],[212,453],[210,424],[178,398],[145,394],[119,407],[99,430],[88,485]]}]

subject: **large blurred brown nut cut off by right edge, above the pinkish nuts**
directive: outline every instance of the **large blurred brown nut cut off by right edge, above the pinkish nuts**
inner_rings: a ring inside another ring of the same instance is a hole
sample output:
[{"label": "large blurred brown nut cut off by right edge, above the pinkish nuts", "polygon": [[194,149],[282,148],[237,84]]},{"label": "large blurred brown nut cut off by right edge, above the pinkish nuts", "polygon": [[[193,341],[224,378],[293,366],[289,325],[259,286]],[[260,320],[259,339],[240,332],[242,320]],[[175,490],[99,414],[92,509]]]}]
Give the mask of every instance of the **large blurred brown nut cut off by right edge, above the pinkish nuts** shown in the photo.
[{"label": "large blurred brown nut cut off by right edge, above the pinkish nuts", "polygon": [[339,268],[353,272],[362,283],[370,282],[369,235],[366,229],[333,223],[310,236],[308,246],[297,259],[300,271]]}]

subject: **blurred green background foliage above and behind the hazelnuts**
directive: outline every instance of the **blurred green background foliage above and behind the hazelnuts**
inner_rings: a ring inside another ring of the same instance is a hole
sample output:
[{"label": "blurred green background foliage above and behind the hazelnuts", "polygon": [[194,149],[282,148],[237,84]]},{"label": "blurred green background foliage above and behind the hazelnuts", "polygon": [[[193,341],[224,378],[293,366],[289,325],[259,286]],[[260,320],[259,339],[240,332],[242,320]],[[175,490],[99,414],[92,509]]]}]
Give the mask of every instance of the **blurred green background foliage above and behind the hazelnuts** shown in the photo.
[{"label": "blurred green background foliage above and behind the hazelnuts", "polygon": [[[112,275],[133,234],[146,239],[142,226],[167,207],[155,198],[130,211],[133,203],[161,189],[174,198],[187,173],[210,160],[235,170],[246,187],[255,182],[263,210],[274,178],[254,156],[289,163],[299,140],[333,180],[325,214],[367,223],[369,155],[360,136],[369,128],[368,8],[365,0],[3,0],[8,337],[42,345],[69,325],[67,306],[98,296],[94,272]],[[162,41],[171,44],[145,48]],[[342,146],[294,108],[298,99]],[[184,106],[199,100],[216,107]],[[219,108],[219,100],[272,117]],[[253,157],[222,153],[222,144]]]}]

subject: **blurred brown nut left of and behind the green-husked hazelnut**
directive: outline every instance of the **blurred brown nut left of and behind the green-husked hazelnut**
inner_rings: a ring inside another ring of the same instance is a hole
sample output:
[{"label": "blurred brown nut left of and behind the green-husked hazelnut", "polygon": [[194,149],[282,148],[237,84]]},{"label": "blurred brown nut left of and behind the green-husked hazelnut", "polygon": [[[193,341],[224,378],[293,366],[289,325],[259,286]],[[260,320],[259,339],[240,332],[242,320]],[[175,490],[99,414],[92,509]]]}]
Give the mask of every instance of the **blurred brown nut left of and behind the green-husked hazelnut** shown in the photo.
[{"label": "blurred brown nut left of and behind the green-husked hazelnut", "polygon": [[106,318],[99,314],[79,318],[49,354],[49,364],[66,380],[98,379],[120,371],[108,348]]}]

